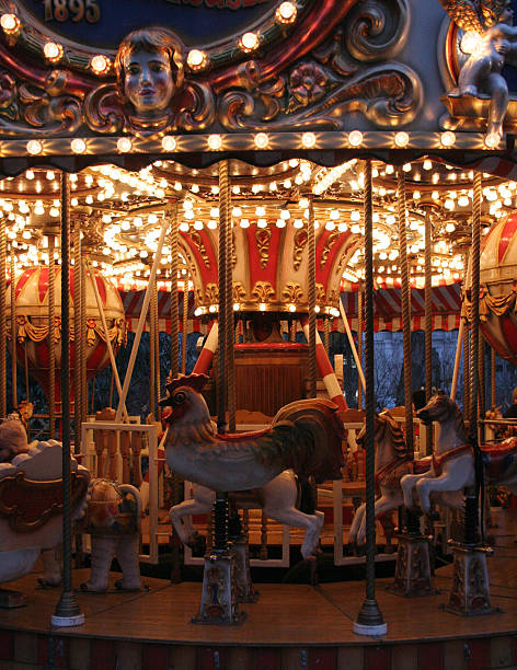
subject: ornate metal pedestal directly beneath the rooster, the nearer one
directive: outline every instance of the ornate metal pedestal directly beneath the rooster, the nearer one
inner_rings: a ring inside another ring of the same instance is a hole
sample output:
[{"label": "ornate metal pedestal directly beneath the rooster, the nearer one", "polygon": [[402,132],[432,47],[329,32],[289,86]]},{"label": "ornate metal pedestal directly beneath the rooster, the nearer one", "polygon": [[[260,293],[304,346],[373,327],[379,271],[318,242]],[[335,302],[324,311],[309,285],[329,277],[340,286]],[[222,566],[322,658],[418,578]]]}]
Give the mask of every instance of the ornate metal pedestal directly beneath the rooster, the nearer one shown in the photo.
[{"label": "ornate metal pedestal directly beneath the rooster, the nearer one", "polygon": [[233,551],[205,556],[199,614],[192,619],[192,623],[239,625],[244,621],[245,613],[239,612],[235,571]]}]

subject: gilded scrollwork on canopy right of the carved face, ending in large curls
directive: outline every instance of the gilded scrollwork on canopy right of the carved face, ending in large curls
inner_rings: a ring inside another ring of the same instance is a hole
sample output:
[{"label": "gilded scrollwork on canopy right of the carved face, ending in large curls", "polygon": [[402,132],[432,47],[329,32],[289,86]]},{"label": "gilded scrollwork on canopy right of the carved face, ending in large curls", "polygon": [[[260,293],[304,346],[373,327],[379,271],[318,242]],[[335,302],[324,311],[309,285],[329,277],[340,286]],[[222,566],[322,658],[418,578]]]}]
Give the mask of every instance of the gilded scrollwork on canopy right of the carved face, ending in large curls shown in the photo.
[{"label": "gilded scrollwork on canopy right of the carved face, ending in large curls", "polygon": [[315,125],[341,130],[348,112],[360,112],[382,128],[410,123],[422,106],[422,83],[411,68],[392,60],[407,27],[406,0],[356,3],[314,58],[295,63],[268,90],[260,63],[242,67],[241,88],[221,97],[221,124],[248,130]]}]

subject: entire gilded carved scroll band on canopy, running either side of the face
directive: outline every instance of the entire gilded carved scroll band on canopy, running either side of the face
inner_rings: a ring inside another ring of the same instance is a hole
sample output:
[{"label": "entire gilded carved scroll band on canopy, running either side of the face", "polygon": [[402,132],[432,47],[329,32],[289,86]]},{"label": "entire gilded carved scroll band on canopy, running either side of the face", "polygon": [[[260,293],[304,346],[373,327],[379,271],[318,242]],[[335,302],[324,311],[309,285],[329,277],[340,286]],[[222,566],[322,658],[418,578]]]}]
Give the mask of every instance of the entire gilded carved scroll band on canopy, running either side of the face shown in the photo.
[{"label": "entire gilded carved scroll band on canopy, running either side of the face", "polygon": [[[310,5],[315,23],[317,4]],[[42,82],[31,71],[23,79],[0,70],[0,134],[71,137],[81,130],[159,137],[218,132],[221,127],[340,130],[349,112],[379,128],[411,123],[422,106],[422,83],[395,60],[407,36],[407,0],[351,0],[333,8],[325,19],[332,28],[321,28],[320,43],[311,36],[307,50],[289,45],[297,58],[283,58],[276,48],[273,61],[248,57],[231,68],[221,66],[221,71],[214,63],[206,72],[189,70],[186,49],[169,31],[175,81],[166,108],[156,115],[137,113],[113,76],[92,83],[91,77],[81,79],[64,68],[50,70]],[[300,35],[295,32],[291,39],[296,43]],[[120,60],[115,65],[119,68]]]}]

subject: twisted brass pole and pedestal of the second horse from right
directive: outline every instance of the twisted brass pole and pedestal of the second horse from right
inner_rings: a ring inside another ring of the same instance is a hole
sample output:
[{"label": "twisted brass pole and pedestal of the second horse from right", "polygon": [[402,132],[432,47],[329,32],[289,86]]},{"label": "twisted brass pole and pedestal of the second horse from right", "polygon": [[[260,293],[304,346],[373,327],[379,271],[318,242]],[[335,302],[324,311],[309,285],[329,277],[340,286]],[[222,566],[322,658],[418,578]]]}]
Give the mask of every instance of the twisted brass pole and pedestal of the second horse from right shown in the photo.
[{"label": "twisted brass pole and pedestal of the second horse from right", "polygon": [[[407,259],[407,210],[405,206],[405,176],[399,170],[399,257],[401,265],[402,346],[404,353],[405,442],[414,457],[413,397],[411,380],[411,284]],[[406,598],[433,593],[429,543],[422,535],[418,517],[407,509],[407,530],[399,535],[395,576],[391,590]]]}]

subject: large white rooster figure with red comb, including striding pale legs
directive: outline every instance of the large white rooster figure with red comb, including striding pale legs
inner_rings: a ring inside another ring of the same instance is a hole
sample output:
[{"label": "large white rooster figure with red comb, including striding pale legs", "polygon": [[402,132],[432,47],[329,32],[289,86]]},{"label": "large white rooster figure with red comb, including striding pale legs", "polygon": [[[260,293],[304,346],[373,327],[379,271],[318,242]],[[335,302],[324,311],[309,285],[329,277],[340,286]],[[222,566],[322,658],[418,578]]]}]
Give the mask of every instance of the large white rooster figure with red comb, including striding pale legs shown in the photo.
[{"label": "large white rooster figure with red comb, including striding pale legs", "polygon": [[273,519],[305,528],[301,554],[309,557],[318,546],[323,513],[296,509],[295,475],[317,484],[342,477],[344,429],[337,406],[326,400],[298,401],[279,409],[265,430],[220,436],[200,394],[207,379],[205,374],[175,379],[161,402],[172,407],[166,418],[166,463],[198,485],[194,500],[171,510],[180,538],[189,539],[182,518],[206,511],[212,492],[237,492],[238,505],[244,505],[244,496],[251,497],[251,505],[262,507]]}]

